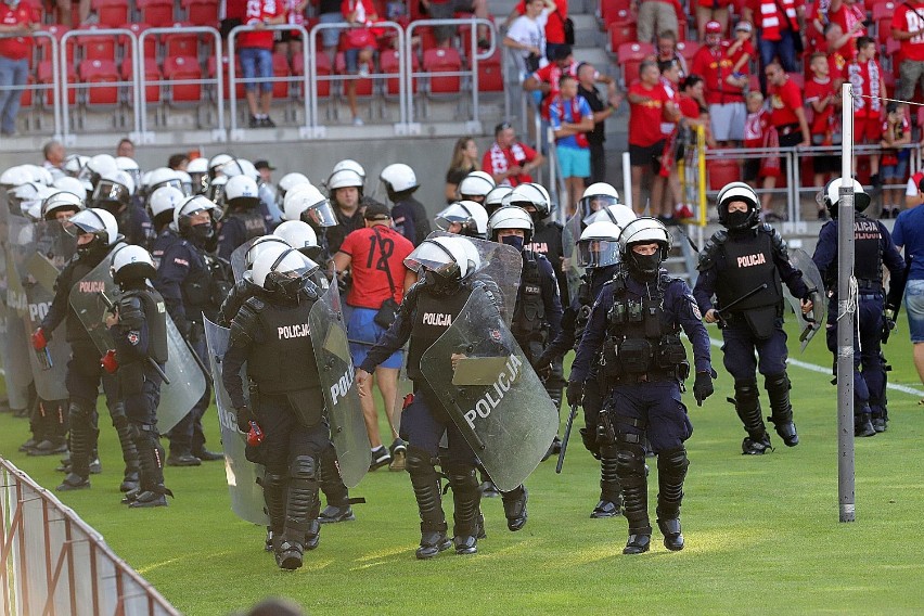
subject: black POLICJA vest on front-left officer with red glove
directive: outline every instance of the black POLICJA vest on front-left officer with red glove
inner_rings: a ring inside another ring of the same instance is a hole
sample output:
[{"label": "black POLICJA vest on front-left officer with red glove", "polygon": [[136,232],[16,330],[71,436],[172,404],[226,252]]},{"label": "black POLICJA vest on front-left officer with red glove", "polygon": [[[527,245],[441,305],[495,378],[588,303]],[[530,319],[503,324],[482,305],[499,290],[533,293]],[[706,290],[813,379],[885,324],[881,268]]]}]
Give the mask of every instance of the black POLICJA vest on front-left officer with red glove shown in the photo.
[{"label": "black POLICJA vest on front-left officer with red glove", "polygon": [[288,394],[317,387],[320,378],[308,321],[315,303],[303,299],[293,306],[269,301],[262,305],[257,312],[259,332],[253,332],[254,339],[260,342],[247,357],[247,374],[261,394]]}]

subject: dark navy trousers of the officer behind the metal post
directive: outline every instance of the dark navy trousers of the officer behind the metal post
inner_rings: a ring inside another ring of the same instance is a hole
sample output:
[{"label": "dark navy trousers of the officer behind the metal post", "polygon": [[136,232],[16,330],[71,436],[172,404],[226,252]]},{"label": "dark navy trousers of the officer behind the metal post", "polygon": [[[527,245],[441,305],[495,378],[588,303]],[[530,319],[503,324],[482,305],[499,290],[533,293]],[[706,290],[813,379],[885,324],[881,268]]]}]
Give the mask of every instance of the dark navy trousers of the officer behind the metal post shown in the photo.
[{"label": "dark navy trousers of the officer behind the metal post", "polygon": [[[861,293],[857,310],[859,335],[854,332],[854,414],[883,413],[885,399],[885,362],[883,361],[883,310],[881,293]],[[827,310],[827,349],[837,357],[837,301],[832,298]],[[835,359],[836,361],[836,359]]]}]

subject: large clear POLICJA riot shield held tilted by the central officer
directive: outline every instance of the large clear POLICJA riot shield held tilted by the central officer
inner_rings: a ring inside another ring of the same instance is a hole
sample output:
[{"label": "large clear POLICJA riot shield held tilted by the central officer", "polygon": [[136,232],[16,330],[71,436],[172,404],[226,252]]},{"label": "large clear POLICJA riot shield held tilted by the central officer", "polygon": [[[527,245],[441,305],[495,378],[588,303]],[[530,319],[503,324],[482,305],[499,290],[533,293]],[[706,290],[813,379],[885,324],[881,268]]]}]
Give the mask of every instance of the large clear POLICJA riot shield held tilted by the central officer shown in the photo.
[{"label": "large clear POLICJA riot shield held tilted by the central officer", "polygon": [[559,412],[480,288],[421,358],[429,387],[501,491],[539,465]]}]

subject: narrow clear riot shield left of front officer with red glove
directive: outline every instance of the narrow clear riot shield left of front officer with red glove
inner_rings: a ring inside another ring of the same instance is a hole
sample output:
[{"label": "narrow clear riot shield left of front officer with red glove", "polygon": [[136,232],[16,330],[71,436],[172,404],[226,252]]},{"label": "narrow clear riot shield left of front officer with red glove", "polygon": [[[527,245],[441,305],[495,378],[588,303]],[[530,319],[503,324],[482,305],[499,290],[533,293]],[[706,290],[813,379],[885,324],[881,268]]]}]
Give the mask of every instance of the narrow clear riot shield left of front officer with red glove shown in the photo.
[{"label": "narrow clear riot shield left of front officer with red glove", "polygon": [[[208,345],[211,384],[215,387],[215,403],[218,407],[218,422],[221,426],[224,475],[228,478],[228,492],[231,496],[231,511],[245,522],[266,525],[269,519],[264,512],[264,491],[257,484],[257,479],[264,477],[266,470],[261,464],[247,460],[246,437],[238,432],[238,415],[221,381],[221,361],[228,350],[230,338],[231,330],[216,325],[208,319],[205,320],[205,342]],[[246,383],[246,364],[241,372]]]}]

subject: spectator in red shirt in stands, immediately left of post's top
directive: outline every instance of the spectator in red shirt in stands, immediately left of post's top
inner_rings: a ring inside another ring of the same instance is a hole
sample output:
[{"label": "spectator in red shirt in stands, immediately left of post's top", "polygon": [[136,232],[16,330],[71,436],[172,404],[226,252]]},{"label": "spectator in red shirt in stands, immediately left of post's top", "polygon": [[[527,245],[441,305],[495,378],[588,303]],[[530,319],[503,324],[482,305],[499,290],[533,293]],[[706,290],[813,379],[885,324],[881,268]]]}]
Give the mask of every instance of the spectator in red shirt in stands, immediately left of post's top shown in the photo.
[{"label": "spectator in red shirt in stands, immediately left of post's top", "polygon": [[[812,111],[809,130],[812,145],[834,145],[840,143],[840,123],[836,111],[840,107],[840,99],[834,90],[834,80],[830,76],[831,66],[827,57],[816,52],[809,61],[812,78],[806,84],[806,104]],[[814,171],[814,185],[822,188],[827,184],[829,176],[840,170],[840,156],[837,154],[816,154],[811,157]],[[818,206],[818,219],[827,219],[827,208]]]}]

